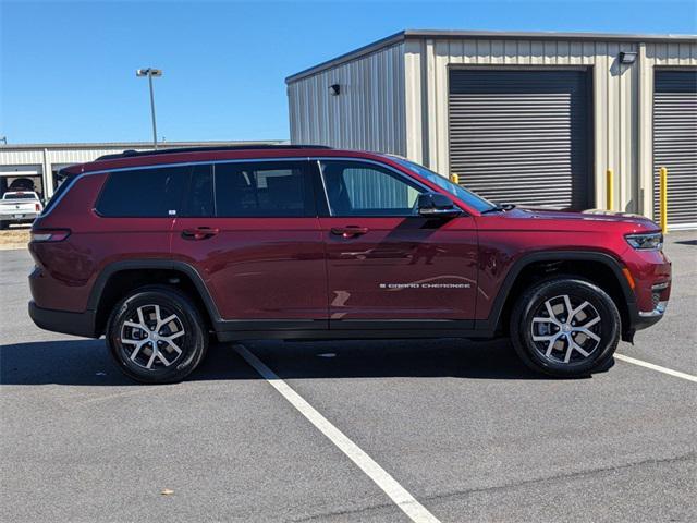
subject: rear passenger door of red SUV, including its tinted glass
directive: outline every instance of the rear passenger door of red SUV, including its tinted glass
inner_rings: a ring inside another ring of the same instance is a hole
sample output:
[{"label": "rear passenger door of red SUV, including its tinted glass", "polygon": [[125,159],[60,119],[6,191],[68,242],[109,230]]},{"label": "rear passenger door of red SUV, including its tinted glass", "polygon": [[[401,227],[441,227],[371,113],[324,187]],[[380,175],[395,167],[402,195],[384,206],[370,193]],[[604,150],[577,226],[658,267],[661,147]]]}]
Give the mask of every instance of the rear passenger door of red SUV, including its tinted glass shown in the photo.
[{"label": "rear passenger door of red SUV, including its tinted glass", "polygon": [[197,166],[172,234],[230,330],[327,327],[323,245],[306,160]]}]

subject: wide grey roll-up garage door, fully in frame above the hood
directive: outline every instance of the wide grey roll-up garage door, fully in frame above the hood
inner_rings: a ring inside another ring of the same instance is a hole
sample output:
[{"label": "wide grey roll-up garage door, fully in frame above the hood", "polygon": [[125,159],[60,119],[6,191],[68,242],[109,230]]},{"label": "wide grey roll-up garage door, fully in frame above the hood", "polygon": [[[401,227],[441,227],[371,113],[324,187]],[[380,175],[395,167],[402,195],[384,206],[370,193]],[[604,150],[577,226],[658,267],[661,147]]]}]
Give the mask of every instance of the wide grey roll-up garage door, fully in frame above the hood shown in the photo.
[{"label": "wide grey roll-up garage door, fully in frame above the hood", "polygon": [[450,71],[450,167],[498,203],[587,208],[585,71]]}]

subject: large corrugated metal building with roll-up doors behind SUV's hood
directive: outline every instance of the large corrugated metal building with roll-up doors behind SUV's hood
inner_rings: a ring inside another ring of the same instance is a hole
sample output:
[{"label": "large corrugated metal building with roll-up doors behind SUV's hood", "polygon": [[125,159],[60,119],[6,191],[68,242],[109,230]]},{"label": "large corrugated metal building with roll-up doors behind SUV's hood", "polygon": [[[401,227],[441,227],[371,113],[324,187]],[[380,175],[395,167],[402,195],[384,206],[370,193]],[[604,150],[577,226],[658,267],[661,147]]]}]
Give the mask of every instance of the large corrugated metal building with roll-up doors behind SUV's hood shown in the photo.
[{"label": "large corrugated metal building with roll-up doors behind SUV's hood", "polygon": [[697,228],[697,36],[404,31],[286,78],[291,141],[394,153],[497,202]]}]

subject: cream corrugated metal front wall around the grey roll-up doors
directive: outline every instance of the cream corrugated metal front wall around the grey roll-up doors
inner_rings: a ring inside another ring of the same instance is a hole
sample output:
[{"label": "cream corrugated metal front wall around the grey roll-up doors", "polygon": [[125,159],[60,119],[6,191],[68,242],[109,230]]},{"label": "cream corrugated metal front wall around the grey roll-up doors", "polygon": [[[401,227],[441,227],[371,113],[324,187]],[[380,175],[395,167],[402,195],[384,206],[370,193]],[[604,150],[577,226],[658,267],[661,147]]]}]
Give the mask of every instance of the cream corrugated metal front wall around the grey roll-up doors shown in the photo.
[{"label": "cream corrugated metal front wall around the grey roll-up doors", "polygon": [[[621,51],[638,51],[637,62],[621,64]],[[594,76],[595,206],[604,206],[606,170],[613,169],[613,208],[652,216],[652,68],[697,66],[697,42],[412,38],[406,40],[405,52],[407,143],[424,143],[420,155],[409,147],[409,157],[443,174],[450,169],[450,69],[589,68]]]}]

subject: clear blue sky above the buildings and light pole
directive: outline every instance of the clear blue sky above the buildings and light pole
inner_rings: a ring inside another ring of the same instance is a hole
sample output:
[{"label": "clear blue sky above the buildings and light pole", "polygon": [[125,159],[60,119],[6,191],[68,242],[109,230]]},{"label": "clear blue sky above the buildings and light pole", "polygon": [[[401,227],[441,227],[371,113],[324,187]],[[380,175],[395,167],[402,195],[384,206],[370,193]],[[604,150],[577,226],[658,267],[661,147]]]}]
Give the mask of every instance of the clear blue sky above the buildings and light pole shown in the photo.
[{"label": "clear blue sky above the buildings and light pole", "polygon": [[404,28],[697,33],[689,1],[28,2],[0,0],[0,136],[288,138],[284,78]]}]

